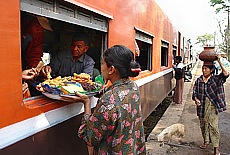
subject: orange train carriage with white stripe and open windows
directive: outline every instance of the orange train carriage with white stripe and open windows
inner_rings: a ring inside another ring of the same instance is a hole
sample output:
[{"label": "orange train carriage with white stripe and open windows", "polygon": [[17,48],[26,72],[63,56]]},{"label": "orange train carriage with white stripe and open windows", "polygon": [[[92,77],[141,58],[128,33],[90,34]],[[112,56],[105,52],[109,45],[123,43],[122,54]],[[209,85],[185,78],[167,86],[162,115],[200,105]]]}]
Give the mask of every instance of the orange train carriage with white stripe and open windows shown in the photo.
[{"label": "orange train carriage with white stripe and open windows", "polygon": [[[22,96],[21,37],[24,19],[43,16],[43,52],[55,56],[68,47],[74,32],[90,35],[88,54],[100,70],[101,53],[115,44],[133,50],[142,72],[140,87],[144,119],[174,87],[173,57],[190,63],[192,46],[152,0],[9,0],[0,2],[0,154],[87,154],[77,137],[81,103],[35,95]],[[91,97],[92,108],[97,98]]]}]

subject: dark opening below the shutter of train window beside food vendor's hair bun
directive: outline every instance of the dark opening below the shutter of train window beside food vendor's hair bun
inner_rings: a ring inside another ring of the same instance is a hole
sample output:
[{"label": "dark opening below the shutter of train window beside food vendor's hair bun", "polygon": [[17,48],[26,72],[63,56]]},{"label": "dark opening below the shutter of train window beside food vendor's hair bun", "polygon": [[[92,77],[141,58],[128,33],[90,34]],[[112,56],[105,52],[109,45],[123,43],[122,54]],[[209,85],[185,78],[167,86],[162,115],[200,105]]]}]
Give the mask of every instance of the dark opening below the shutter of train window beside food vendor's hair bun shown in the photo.
[{"label": "dark opening below the shutter of train window beside food vendor's hair bun", "polygon": [[140,64],[141,70],[152,70],[152,50],[151,44],[136,40],[140,50],[139,55],[136,56],[136,61]]}]

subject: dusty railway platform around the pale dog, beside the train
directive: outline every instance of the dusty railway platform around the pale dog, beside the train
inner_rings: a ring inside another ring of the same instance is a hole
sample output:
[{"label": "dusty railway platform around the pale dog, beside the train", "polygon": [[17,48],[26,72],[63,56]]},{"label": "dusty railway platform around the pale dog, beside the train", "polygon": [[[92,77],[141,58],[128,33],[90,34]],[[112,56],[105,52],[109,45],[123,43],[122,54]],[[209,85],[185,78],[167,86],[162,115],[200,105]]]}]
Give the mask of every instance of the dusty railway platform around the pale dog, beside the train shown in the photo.
[{"label": "dusty railway platform around the pale dog, beside the train", "polygon": [[[202,135],[199,127],[199,120],[196,115],[196,106],[191,99],[192,87],[202,72],[203,62],[198,61],[192,69],[193,78],[191,82],[185,82],[183,92],[183,104],[175,105],[171,103],[165,111],[162,118],[158,121],[148,137],[147,154],[148,155],[213,155],[212,145],[207,149],[200,149],[202,144]],[[230,78],[225,83],[225,95],[227,110],[219,114],[219,129],[221,134],[220,153],[221,155],[230,155]],[[165,143],[161,147],[157,141],[157,135],[166,127],[182,123],[185,125],[185,137],[174,138],[171,142]]]}]

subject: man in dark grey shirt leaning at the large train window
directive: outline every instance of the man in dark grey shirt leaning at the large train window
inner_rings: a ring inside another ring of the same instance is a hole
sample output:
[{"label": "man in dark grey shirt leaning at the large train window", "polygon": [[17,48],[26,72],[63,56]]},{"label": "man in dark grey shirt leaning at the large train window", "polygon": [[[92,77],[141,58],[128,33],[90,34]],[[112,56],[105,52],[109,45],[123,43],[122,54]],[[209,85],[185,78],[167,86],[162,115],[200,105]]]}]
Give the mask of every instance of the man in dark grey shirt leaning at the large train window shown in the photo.
[{"label": "man in dark grey shirt leaning at the large train window", "polygon": [[95,62],[86,54],[89,46],[89,36],[84,32],[76,33],[73,35],[69,50],[59,52],[51,59],[49,65],[43,67],[42,72],[45,75],[51,73],[52,77],[87,73],[92,78]]}]

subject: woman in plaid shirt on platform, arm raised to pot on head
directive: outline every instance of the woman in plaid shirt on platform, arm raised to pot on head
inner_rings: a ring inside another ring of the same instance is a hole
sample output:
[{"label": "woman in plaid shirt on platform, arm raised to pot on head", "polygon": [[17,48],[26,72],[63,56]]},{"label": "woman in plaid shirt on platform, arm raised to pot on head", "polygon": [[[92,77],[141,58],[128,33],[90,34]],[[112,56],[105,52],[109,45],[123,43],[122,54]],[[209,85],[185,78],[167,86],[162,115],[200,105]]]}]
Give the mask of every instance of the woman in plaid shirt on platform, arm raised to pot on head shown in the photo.
[{"label": "woman in plaid shirt on platform, arm raised to pot on head", "polygon": [[197,105],[197,116],[200,120],[200,128],[204,139],[200,148],[206,149],[207,145],[212,143],[214,155],[220,155],[218,149],[220,141],[218,113],[226,110],[223,84],[229,76],[220,61],[220,56],[218,56],[217,61],[222,73],[214,75],[213,62],[204,62],[202,66],[203,75],[195,81],[192,95],[192,99]]}]

